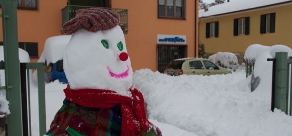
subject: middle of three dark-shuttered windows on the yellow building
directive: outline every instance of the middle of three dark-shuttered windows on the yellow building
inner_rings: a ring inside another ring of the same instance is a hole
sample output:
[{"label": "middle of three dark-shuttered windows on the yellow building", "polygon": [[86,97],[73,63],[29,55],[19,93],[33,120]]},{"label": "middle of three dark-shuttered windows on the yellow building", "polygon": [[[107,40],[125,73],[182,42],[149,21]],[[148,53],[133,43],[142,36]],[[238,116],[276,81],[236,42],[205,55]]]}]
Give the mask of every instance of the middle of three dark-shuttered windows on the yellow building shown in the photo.
[{"label": "middle of three dark-shuttered windows on the yellow building", "polygon": [[249,34],[249,17],[234,19],[234,36]]}]

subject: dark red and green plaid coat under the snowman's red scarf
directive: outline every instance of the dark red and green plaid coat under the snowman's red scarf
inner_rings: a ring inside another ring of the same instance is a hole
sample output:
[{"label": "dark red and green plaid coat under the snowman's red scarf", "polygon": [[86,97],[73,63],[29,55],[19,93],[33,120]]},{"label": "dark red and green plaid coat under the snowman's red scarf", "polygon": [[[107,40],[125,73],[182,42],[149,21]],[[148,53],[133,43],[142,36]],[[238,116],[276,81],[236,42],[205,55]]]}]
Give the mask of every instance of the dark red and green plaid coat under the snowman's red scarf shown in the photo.
[{"label": "dark red and green plaid coat under the snowman's red scarf", "polygon": [[[89,108],[67,99],[56,113],[48,136],[71,136],[66,132],[70,126],[84,136],[121,136],[121,110],[117,104],[111,108]],[[162,136],[156,126],[149,126],[143,136]],[[138,134],[137,134],[138,136]]]}]

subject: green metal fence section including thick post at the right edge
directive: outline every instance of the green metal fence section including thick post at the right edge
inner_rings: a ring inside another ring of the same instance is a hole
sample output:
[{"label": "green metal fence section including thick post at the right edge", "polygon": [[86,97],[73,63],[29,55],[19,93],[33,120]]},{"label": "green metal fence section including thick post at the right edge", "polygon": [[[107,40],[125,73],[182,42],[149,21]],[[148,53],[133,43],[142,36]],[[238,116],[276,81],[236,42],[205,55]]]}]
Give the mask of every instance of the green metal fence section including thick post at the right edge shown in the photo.
[{"label": "green metal fence section including thick post at the right edge", "polygon": [[292,67],[292,57],[288,58],[287,52],[276,52],[275,58],[268,59],[268,61],[273,61],[271,110],[274,111],[274,108],[277,108],[291,116],[292,72],[290,72],[290,69]]}]

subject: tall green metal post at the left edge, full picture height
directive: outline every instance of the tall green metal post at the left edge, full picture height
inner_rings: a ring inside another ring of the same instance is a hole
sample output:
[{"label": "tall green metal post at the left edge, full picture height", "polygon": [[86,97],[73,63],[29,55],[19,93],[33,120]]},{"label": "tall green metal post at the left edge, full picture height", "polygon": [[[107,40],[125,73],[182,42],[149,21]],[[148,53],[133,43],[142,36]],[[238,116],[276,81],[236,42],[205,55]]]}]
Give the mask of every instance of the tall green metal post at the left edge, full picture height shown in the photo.
[{"label": "tall green metal post at the left edge, full picture height", "polygon": [[18,59],[17,0],[1,0],[5,86],[10,114],[7,116],[8,136],[23,136]]}]

